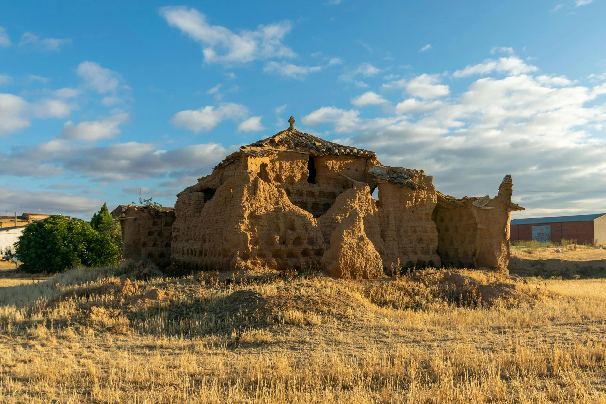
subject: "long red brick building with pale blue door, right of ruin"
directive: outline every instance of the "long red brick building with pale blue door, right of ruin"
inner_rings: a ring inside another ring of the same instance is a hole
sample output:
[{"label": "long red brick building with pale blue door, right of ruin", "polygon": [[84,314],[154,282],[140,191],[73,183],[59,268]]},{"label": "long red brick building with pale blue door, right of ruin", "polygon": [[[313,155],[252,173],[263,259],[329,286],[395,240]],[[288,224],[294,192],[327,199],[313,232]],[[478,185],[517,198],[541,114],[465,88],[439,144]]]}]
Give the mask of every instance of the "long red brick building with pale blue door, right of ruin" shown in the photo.
[{"label": "long red brick building with pale blue door, right of ruin", "polygon": [[513,219],[509,239],[545,242],[576,239],[579,244],[593,244],[597,240],[597,244],[606,244],[606,213]]}]

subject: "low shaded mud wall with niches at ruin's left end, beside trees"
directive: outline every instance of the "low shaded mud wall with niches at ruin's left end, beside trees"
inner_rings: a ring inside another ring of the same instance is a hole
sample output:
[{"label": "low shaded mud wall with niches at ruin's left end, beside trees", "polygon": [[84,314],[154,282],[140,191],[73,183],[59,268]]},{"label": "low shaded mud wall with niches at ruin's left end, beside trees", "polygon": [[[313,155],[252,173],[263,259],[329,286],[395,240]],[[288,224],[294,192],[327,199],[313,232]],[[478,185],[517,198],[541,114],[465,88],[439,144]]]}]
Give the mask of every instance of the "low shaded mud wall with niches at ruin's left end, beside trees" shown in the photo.
[{"label": "low shaded mud wall with niches at ruin's left end, beside trees", "polygon": [[120,216],[122,257],[135,261],[148,259],[159,267],[169,265],[174,220],[174,211],[129,206]]}]

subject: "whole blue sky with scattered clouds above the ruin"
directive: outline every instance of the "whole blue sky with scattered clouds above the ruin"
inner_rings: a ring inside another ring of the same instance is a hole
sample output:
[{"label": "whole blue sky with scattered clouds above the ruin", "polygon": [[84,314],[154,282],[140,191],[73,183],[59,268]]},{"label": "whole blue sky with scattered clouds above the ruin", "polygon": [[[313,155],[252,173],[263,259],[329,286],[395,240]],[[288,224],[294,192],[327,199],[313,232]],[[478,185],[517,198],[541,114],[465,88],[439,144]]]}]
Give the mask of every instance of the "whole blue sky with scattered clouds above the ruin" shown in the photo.
[{"label": "whole blue sky with scattered clouds above the ruin", "polygon": [[606,212],[604,0],[12,3],[2,214],[173,205],[290,115],[453,196],[512,174],[515,217]]}]

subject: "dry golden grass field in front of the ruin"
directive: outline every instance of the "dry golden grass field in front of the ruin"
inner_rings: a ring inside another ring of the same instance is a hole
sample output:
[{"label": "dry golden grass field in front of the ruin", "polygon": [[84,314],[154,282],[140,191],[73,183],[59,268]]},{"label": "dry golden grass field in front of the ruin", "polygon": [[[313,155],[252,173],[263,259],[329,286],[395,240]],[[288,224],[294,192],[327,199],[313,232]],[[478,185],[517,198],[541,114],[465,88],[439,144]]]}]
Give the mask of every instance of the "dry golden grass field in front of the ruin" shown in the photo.
[{"label": "dry golden grass field in front of the ruin", "polygon": [[167,299],[131,305],[83,294],[113,276],[0,290],[0,402],[606,402],[606,280],[530,282],[531,302],[481,308],[407,279],[149,279],[141,291]]}]

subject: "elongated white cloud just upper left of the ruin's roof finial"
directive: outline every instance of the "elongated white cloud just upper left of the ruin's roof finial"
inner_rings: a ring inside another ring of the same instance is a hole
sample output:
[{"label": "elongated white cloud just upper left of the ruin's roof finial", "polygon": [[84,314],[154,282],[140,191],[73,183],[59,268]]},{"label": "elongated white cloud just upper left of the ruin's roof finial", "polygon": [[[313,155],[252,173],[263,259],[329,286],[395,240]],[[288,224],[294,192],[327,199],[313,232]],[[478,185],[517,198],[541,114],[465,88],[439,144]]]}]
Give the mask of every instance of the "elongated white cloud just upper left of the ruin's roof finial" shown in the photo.
[{"label": "elongated white cloud just upper left of the ruin's roof finial", "polygon": [[247,114],[247,107],[230,102],[221,104],[217,108],[207,105],[198,110],[181,111],[173,115],[170,122],[176,127],[199,133],[199,131],[213,130],[224,119],[243,118]]}]

